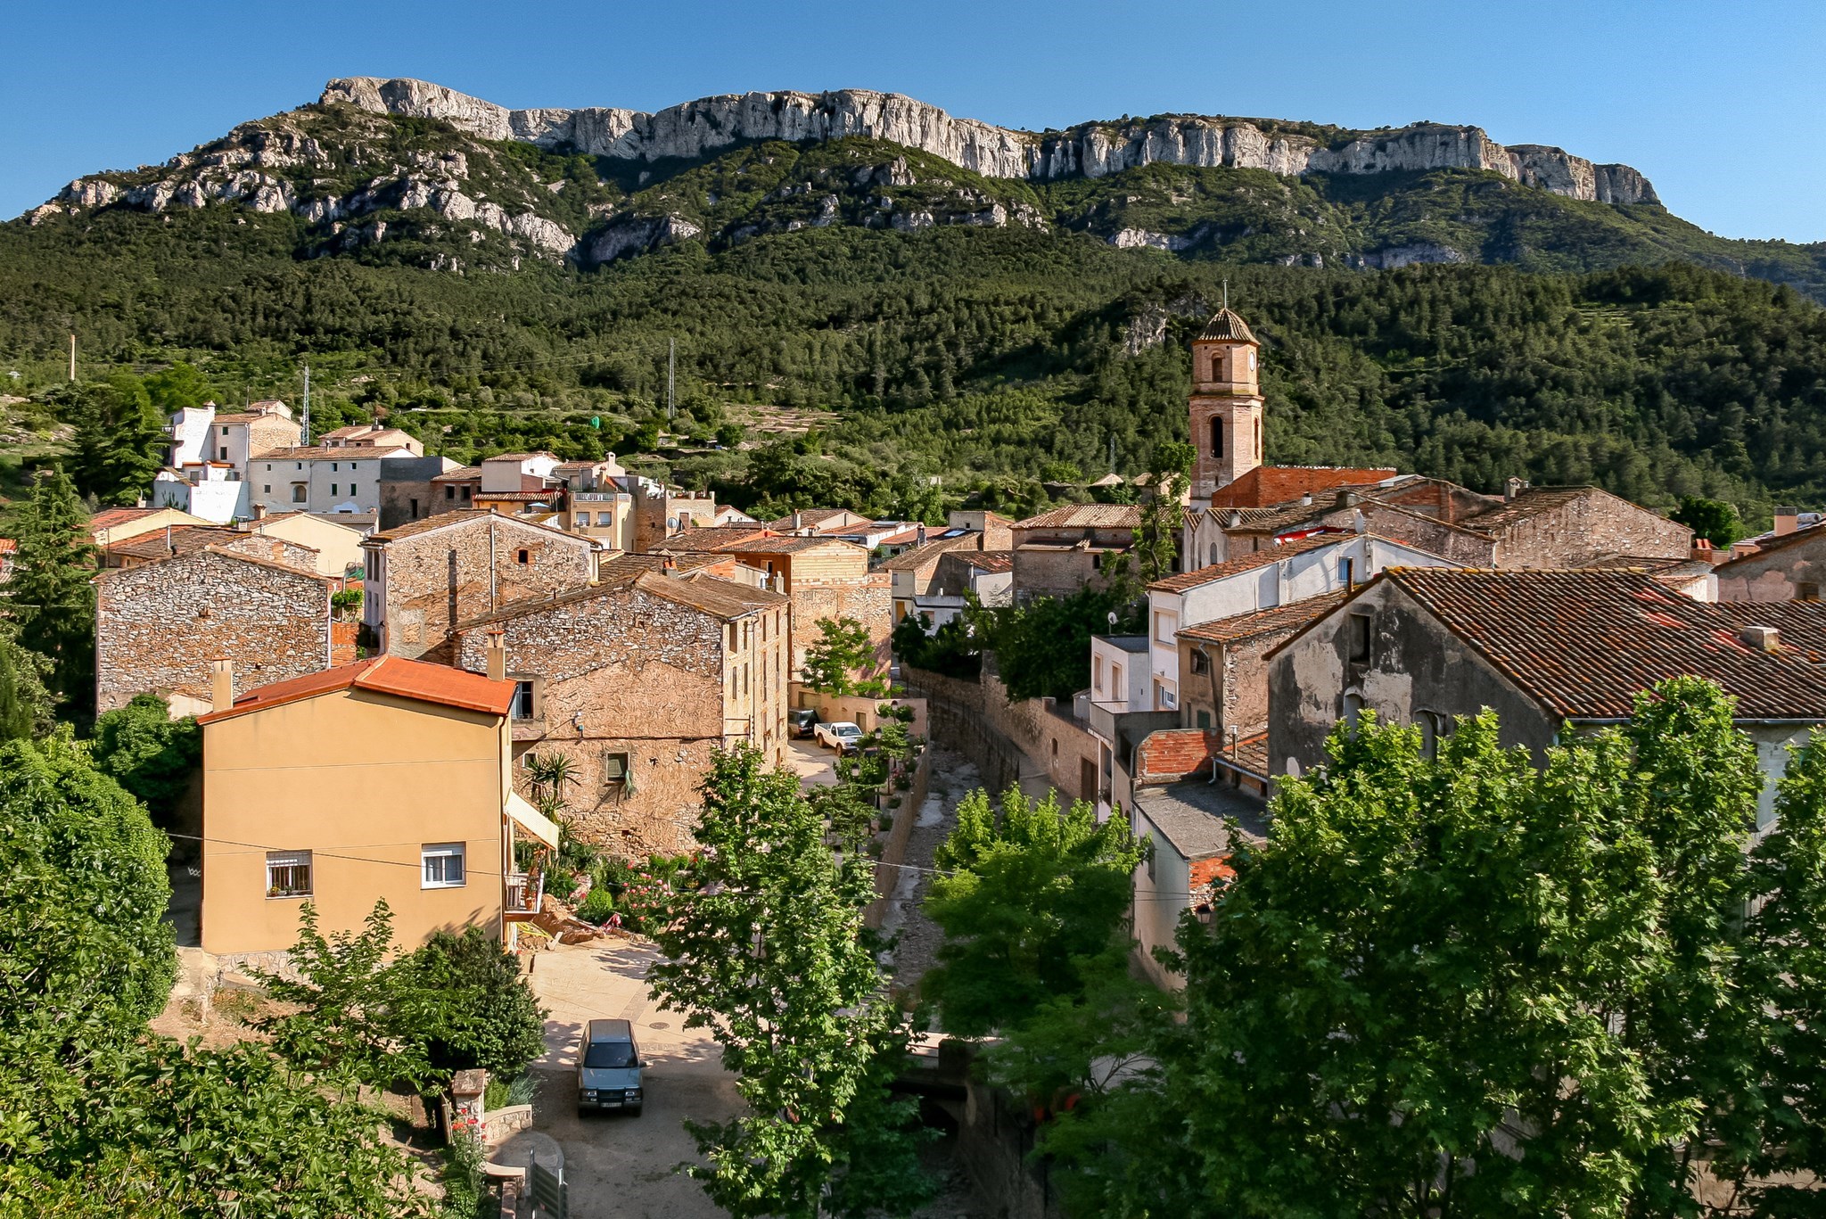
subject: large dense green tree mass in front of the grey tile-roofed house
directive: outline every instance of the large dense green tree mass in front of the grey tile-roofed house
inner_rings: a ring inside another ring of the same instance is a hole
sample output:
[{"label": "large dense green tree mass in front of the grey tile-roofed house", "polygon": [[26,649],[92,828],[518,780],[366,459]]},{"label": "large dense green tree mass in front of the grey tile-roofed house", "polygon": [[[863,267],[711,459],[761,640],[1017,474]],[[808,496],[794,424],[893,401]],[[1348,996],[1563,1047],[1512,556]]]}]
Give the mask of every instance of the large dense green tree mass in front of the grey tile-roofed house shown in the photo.
[{"label": "large dense green tree mass in front of the grey tile-roofed house", "polygon": [[1698,1214],[1691,1157],[1733,1142],[1766,1020],[1729,700],[1667,682],[1539,769],[1488,713],[1437,758],[1373,715],[1329,753],[1181,928],[1185,1023],[1110,1106],[1119,1155],[1076,1144],[1094,1206]]}]

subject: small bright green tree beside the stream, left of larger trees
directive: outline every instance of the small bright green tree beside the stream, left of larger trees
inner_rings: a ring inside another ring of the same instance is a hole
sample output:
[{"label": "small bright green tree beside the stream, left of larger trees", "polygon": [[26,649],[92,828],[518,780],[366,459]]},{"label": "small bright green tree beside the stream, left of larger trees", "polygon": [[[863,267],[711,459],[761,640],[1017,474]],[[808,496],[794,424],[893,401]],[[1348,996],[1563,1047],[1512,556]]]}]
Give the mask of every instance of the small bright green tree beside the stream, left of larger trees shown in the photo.
[{"label": "small bright green tree beside the stream, left of larger trees", "polygon": [[1127,821],[1097,822],[1085,800],[1032,800],[1010,788],[957,806],[939,844],[926,914],[944,930],[924,992],[948,1033],[1019,1025],[1050,998],[1085,991],[1099,958],[1128,954],[1127,914],[1143,846]]}]

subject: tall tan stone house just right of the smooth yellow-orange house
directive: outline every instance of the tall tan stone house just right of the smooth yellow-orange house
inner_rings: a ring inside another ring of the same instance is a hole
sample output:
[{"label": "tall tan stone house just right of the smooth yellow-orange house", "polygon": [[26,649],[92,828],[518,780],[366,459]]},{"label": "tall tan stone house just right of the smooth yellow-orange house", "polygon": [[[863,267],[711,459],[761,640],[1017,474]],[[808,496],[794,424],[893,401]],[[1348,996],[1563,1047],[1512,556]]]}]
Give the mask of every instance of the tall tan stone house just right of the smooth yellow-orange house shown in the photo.
[{"label": "tall tan stone house just right of the smooth yellow-orange house", "polygon": [[456,662],[486,671],[500,640],[513,705],[515,786],[528,753],[575,768],[566,821],[623,852],[690,844],[716,749],[787,751],[789,603],[714,576],[641,572],[462,623]]}]

